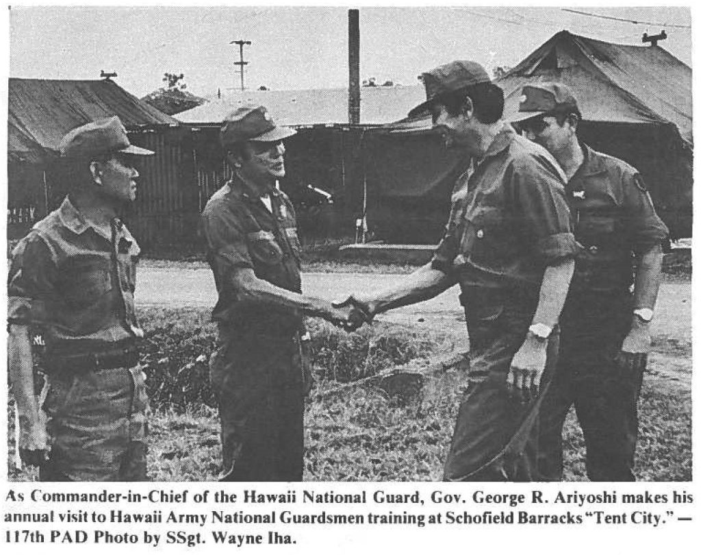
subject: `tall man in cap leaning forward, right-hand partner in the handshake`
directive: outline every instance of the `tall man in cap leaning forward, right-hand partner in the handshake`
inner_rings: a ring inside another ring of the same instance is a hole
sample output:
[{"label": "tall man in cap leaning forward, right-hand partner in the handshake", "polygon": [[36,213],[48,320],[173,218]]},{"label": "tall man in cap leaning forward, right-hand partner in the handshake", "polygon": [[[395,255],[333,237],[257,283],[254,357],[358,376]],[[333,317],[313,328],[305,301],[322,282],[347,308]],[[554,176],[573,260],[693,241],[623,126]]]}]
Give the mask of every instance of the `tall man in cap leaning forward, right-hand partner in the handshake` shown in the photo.
[{"label": "tall man in cap leaning forward, right-hand partner in the handshake", "polygon": [[430,109],[446,146],[470,156],[472,168],[456,184],[433,260],[397,286],[343,305],[374,316],[460,283],[470,373],[482,381],[461,403],[444,479],[538,479],[532,427],[576,252],[564,175],[501,119],[503,91],[476,62],[442,65],[423,83],[427,100],[410,115]]}]

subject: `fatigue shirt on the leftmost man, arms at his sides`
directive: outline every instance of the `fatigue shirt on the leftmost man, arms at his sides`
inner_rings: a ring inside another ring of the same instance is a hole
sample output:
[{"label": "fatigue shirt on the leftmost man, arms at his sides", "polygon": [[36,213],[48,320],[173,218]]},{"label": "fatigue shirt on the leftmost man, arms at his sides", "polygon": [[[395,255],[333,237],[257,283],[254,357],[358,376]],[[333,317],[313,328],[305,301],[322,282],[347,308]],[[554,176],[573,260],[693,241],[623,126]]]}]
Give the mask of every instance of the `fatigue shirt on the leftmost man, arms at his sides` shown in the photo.
[{"label": "fatigue shirt on the leftmost man, arms at his sides", "polygon": [[39,328],[47,355],[100,352],[143,337],[134,311],[139,253],[118,218],[109,234],[66,197],[13,250],[8,321]]}]

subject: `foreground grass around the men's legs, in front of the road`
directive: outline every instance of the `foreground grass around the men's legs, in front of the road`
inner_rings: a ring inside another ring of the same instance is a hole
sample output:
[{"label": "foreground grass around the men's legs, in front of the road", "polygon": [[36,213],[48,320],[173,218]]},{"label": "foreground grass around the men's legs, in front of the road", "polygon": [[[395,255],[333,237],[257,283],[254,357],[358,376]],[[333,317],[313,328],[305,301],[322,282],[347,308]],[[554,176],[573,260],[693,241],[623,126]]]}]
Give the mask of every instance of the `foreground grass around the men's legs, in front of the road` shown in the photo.
[{"label": "foreground grass around the men's legs, in front of the road", "polygon": [[[219,472],[217,411],[207,383],[206,359],[214,328],[204,309],[149,309],[142,313],[149,340],[143,361],[154,405],[149,474],[157,481],[210,481]],[[308,481],[427,481],[440,479],[464,376],[449,371],[427,380],[409,399],[390,398],[353,383],[409,361],[451,352],[454,338],[440,332],[383,324],[346,334],[314,321],[315,389],[306,408]],[[658,347],[664,350],[667,340]],[[671,345],[671,344],[670,344]],[[671,345],[669,348],[676,348]],[[688,354],[690,345],[684,347]],[[640,403],[636,472],[646,481],[691,479],[691,401],[688,385],[660,387],[647,380]],[[12,419],[10,419],[12,420]],[[13,438],[10,430],[9,438]],[[566,479],[585,479],[583,439],[573,414],[565,429]],[[13,446],[10,446],[11,455]],[[12,459],[12,457],[10,457]],[[32,479],[10,469],[13,480]]]}]

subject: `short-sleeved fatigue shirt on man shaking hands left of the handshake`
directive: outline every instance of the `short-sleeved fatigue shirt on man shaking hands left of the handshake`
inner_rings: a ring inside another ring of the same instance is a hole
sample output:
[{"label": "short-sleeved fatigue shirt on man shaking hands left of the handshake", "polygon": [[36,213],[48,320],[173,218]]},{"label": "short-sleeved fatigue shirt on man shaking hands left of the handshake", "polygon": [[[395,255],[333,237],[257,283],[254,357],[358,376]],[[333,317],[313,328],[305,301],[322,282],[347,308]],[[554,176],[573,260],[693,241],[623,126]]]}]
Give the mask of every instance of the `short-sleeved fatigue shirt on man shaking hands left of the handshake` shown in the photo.
[{"label": "short-sleeved fatigue shirt on man shaking hands left of the handshake", "polygon": [[302,325],[300,310],[242,300],[232,286],[233,269],[251,268],[257,278],[301,293],[292,203],[276,189],[270,194],[271,213],[251,190],[237,176],[212,195],[202,213],[207,262],[219,293],[212,319],[243,335],[292,335]]}]

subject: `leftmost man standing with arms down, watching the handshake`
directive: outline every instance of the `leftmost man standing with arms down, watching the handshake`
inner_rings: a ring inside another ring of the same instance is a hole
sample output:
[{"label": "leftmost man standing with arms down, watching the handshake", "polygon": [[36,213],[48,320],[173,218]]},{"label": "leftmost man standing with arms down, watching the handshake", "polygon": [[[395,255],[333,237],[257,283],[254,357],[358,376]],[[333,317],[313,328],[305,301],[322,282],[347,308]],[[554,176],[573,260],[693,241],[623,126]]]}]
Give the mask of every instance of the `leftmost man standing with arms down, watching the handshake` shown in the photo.
[{"label": "leftmost man standing with arms down, watching the handshake", "polygon": [[[116,116],[75,128],[59,150],[74,179],[69,194],[18,243],[8,278],[20,456],[45,481],[145,480],[139,246],[118,214],[136,198],[135,160],[154,153],[131,145]],[[34,391],[37,332],[46,344],[48,426]]]}]

